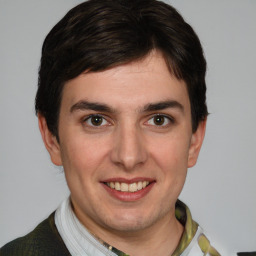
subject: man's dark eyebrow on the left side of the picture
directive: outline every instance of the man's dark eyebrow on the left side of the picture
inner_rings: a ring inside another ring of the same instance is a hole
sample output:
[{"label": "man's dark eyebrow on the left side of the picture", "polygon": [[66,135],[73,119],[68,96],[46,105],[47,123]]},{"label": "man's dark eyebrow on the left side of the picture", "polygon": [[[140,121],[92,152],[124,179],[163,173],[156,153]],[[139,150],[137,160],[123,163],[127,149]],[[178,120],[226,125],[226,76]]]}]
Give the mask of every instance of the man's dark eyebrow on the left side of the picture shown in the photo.
[{"label": "man's dark eyebrow on the left side of the picture", "polygon": [[89,102],[86,100],[81,100],[70,108],[70,112],[74,112],[76,110],[94,110],[94,111],[101,111],[101,112],[115,112],[112,108],[109,106],[102,104],[102,103],[97,103],[97,102]]}]

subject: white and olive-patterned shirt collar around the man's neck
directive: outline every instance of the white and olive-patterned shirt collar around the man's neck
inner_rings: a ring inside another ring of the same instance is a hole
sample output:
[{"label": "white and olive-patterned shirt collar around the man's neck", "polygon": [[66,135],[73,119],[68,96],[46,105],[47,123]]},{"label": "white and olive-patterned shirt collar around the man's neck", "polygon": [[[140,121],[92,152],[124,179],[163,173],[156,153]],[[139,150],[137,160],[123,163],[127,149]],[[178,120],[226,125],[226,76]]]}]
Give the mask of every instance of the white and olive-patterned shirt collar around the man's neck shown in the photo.
[{"label": "white and olive-patterned shirt collar around the man's neck", "polygon": [[[190,210],[181,201],[177,201],[175,215],[184,226],[184,232],[180,243],[172,256],[187,255],[189,245],[194,242],[198,230],[198,224],[192,220]],[[92,235],[75,216],[70,198],[67,198],[55,213],[55,224],[66,247],[72,256],[94,255],[94,256],[125,256],[124,252],[112,247],[106,242]]]}]

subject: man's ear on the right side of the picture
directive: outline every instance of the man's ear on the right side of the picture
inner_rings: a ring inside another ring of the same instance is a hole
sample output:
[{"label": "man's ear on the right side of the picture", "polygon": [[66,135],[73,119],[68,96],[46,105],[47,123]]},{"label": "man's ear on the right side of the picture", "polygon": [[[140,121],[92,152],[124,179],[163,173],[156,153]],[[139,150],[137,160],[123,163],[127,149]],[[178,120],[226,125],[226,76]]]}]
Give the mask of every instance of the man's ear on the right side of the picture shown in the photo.
[{"label": "man's ear on the right side of the picture", "polygon": [[188,167],[193,167],[196,164],[200,148],[203,144],[205,128],[206,119],[199,123],[197,130],[192,134],[188,153]]}]

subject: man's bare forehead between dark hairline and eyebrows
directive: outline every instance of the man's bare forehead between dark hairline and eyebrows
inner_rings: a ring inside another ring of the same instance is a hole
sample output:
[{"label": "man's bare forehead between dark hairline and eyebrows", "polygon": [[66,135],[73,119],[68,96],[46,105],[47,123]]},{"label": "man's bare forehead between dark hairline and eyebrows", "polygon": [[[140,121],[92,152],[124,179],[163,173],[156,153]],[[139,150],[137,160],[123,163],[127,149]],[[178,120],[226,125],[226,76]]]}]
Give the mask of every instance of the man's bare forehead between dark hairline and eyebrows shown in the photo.
[{"label": "man's bare forehead between dark hairline and eyebrows", "polygon": [[85,72],[68,81],[63,89],[62,105],[73,105],[81,100],[114,108],[139,108],[166,100],[189,105],[185,82],[170,73],[158,52],[102,72]]}]

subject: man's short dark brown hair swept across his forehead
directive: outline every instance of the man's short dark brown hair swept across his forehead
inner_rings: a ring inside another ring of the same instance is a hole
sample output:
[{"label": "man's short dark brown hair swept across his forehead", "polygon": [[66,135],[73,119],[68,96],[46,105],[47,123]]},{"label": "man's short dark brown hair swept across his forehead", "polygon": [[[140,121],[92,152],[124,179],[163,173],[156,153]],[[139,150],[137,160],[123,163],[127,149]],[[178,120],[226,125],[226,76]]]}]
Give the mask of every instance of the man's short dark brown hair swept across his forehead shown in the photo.
[{"label": "man's short dark brown hair swept across his forehead", "polygon": [[85,70],[98,72],[141,59],[154,49],[162,52],[170,72],[186,82],[196,131],[208,114],[203,50],[181,15],[156,0],[89,0],[71,9],[44,41],[36,113],[58,138],[65,82]]}]

